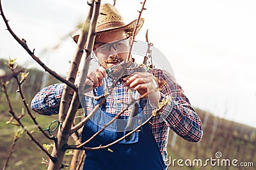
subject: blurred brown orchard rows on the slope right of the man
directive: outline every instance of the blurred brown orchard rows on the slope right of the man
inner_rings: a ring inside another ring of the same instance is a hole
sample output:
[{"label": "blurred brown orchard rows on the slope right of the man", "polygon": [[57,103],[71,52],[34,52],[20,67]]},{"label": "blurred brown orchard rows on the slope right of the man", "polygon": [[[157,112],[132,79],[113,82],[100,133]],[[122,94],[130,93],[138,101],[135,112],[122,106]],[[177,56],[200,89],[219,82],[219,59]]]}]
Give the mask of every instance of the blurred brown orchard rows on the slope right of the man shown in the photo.
[{"label": "blurred brown orchard rows on the slope right of the man", "polygon": [[[230,160],[230,166],[211,166],[200,169],[255,169],[256,166],[256,129],[244,124],[216,117],[206,111],[196,109],[204,127],[204,136],[199,143],[189,143],[182,138],[170,134],[170,155],[172,159],[207,159]],[[219,154],[216,157],[216,154]],[[244,162],[248,167],[232,166],[232,160],[237,159],[237,165]],[[177,164],[176,164],[177,165]],[[224,164],[225,165],[225,164]],[[253,166],[253,167],[252,167]],[[174,167],[179,169],[179,167]],[[172,168],[171,168],[172,169]],[[196,168],[195,168],[196,169]]]}]

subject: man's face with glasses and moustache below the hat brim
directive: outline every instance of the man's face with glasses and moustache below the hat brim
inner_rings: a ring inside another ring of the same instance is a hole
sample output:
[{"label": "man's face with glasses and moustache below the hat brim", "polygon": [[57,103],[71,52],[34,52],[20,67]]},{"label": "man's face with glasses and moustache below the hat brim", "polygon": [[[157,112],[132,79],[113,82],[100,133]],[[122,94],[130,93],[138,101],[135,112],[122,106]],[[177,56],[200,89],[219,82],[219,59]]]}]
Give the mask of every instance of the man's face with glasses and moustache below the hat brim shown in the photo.
[{"label": "man's face with glasses and moustache below the hat brim", "polygon": [[126,59],[129,52],[129,39],[125,31],[113,31],[95,38],[95,54],[105,69]]}]

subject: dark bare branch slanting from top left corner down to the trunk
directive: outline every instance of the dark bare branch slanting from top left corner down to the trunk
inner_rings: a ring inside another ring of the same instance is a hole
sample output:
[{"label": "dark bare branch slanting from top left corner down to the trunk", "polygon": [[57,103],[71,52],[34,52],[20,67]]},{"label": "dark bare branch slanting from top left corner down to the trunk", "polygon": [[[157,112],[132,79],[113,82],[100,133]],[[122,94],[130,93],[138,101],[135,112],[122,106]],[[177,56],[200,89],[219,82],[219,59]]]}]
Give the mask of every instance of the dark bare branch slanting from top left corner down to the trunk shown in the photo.
[{"label": "dark bare branch slanting from top left corner down to the trunk", "polygon": [[31,50],[29,50],[28,45],[26,44],[26,41],[22,41],[22,39],[18,38],[18,36],[12,31],[10,25],[8,24],[8,20],[6,19],[4,12],[3,12],[3,7],[1,4],[1,0],[0,0],[0,12],[1,15],[3,17],[4,23],[7,27],[7,30],[10,32],[10,34],[12,34],[13,38],[16,39],[16,41],[24,48],[24,50],[26,50],[29,55],[32,57],[32,59],[34,59],[40,66],[42,66],[45,71],[47,71],[48,73],[50,73],[52,76],[54,76],[56,79],[60,80],[61,82],[67,84],[69,87],[71,87],[72,89],[74,89],[75,91],[77,91],[77,87],[74,85],[74,83],[65,80],[65,78],[62,78],[58,73],[56,73],[55,71],[52,71],[52,69],[50,69],[49,67],[47,67],[44,62],[42,62],[38,57],[36,57],[35,55],[35,49],[33,50],[33,52],[31,52]]}]

